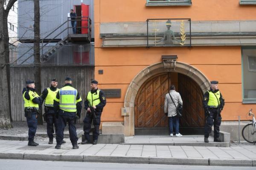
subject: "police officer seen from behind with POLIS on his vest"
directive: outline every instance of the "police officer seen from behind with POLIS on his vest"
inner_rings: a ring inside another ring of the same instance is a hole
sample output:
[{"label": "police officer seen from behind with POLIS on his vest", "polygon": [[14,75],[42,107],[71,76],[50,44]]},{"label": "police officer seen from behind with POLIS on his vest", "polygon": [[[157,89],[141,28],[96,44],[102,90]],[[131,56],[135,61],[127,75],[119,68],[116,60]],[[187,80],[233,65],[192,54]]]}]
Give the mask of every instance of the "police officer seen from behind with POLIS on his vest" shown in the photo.
[{"label": "police officer seen from behind with POLIS on his vest", "polygon": [[53,101],[55,113],[58,118],[58,128],[56,133],[55,149],[61,149],[61,141],[64,138],[64,129],[68,123],[70,141],[73,149],[78,149],[76,134],[76,116],[80,118],[82,109],[82,100],[77,89],[72,86],[72,79],[67,77],[65,85],[57,92]]}]

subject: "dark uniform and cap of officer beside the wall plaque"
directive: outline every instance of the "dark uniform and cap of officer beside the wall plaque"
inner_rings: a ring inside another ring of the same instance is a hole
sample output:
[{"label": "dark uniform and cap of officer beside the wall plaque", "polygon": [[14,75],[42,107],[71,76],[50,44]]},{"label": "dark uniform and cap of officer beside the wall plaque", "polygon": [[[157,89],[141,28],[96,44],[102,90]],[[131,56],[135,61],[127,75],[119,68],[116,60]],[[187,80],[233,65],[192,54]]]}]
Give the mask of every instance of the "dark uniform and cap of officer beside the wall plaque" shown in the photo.
[{"label": "dark uniform and cap of officer beside the wall plaque", "polygon": [[[98,84],[97,81],[92,81],[92,82],[94,82],[94,83],[96,82],[95,84]],[[91,90],[90,92],[93,95],[97,92],[97,90],[98,89]],[[100,103],[98,105],[96,105],[96,109],[95,109],[96,120],[94,118],[94,115],[91,112],[86,113],[86,116],[84,118],[84,137],[86,140],[83,141],[81,144],[86,144],[90,141],[89,139],[90,139],[90,129],[91,129],[92,121],[93,121],[93,125],[94,125],[93,144],[97,144],[98,137],[99,137],[100,118],[101,118],[101,114],[103,111],[103,107],[105,107],[105,105],[106,105],[106,97],[102,90],[99,91],[99,100],[100,100]],[[89,107],[89,102],[86,98],[84,101],[84,109],[87,110],[88,107]]]}]

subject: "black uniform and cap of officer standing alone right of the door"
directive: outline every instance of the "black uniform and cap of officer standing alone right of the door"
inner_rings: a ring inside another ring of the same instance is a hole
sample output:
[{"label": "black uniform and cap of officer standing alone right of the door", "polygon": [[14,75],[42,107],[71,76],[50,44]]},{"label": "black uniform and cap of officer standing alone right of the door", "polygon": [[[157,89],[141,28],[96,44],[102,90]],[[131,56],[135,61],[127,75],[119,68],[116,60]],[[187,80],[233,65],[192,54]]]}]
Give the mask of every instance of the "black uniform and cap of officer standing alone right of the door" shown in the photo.
[{"label": "black uniform and cap of officer standing alone right of the door", "polygon": [[[211,81],[212,84],[218,84],[218,81]],[[205,116],[206,116],[206,123],[204,127],[204,138],[205,142],[209,142],[208,138],[209,133],[212,131],[212,125],[214,127],[214,141],[219,141],[218,137],[220,135],[220,125],[221,125],[221,110],[224,107],[224,98],[222,97],[220,93],[220,104],[216,108],[211,108],[208,106],[208,101],[209,101],[209,92],[216,93],[219,91],[210,89],[209,91],[204,93],[204,99],[203,99],[203,107],[205,111]]]}]

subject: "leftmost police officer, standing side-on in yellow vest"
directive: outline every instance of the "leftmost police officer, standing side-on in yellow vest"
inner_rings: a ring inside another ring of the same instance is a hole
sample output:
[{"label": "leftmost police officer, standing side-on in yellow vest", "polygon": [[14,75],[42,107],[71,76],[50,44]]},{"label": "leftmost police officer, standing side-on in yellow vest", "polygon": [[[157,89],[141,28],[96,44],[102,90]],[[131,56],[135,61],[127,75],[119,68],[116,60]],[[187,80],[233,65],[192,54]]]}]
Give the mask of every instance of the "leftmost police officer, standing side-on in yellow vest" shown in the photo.
[{"label": "leftmost police officer, standing side-on in yellow vest", "polygon": [[41,104],[41,98],[35,92],[35,81],[26,81],[26,87],[22,90],[24,99],[24,111],[27,124],[29,127],[29,146],[38,146],[38,143],[34,141],[35,133],[37,129],[37,117],[38,109]]}]

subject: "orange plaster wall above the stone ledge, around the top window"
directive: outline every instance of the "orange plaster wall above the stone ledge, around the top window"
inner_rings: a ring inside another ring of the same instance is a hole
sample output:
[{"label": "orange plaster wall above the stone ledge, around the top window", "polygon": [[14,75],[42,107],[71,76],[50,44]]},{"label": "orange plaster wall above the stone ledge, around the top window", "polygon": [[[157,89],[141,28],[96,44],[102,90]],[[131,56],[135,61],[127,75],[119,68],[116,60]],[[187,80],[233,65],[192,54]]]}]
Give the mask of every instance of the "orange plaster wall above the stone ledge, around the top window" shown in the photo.
[{"label": "orange plaster wall above the stone ledge, around the top window", "polygon": [[192,6],[145,6],[146,0],[95,0],[95,22],[145,21],[148,18],[254,20],[253,5],[239,0],[192,0]]}]

